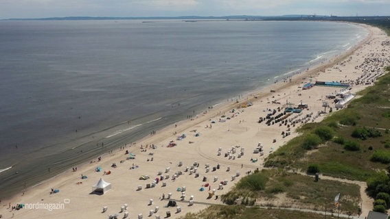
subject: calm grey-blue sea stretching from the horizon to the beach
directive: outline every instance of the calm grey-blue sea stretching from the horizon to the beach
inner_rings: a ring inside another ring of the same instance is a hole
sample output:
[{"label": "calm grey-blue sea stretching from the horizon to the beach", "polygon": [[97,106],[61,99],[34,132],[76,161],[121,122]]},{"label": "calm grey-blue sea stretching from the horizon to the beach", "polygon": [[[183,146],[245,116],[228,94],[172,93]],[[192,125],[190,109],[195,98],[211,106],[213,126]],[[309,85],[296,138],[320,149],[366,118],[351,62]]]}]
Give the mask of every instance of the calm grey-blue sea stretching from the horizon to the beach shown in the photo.
[{"label": "calm grey-blue sea stretching from the horizon to the beach", "polygon": [[367,34],[327,22],[0,21],[0,198]]}]

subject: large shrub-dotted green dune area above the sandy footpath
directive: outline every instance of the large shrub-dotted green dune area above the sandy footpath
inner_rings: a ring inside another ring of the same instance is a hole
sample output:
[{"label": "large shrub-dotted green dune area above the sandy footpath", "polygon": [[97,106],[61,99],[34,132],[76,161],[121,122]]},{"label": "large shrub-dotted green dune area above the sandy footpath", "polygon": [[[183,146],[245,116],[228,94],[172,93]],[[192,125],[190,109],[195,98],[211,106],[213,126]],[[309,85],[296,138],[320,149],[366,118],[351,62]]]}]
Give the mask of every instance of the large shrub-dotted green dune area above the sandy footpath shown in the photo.
[{"label": "large shrub-dotted green dune area above the sandy footpath", "polygon": [[388,84],[390,75],[385,75],[346,109],[304,125],[301,136],[268,156],[264,166],[308,170],[315,164],[324,175],[360,181],[374,175],[373,169],[385,169],[390,164]]}]

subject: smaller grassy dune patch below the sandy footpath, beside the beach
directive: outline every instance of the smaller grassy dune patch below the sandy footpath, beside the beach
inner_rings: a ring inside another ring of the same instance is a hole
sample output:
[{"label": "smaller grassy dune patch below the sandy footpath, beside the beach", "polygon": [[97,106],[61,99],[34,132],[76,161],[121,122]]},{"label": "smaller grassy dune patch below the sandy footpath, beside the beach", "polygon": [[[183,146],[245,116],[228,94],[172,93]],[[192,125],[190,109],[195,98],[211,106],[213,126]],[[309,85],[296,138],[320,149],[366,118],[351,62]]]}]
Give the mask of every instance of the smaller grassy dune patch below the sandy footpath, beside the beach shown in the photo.
[{"label": "smaller grassy dune patch below the sandy footpath, beside the beach", "polygon": [[[260,179],[266,183],[259,190],[253,190],[253,186],[249,183],[253,179]],[[305,206],[308,209],[325,211],[325,205],[332,206],[334,196],[341,191],[346,197],[343,198],[342,211],[357,214],[360,200],[358,185],[321,178],[315,182],[314,177],[275,169],[262,170],[242,177],[234,188],[221,196],[221,200],[227,205],[251,206],[254,203],[264,203],[263,205],[273,206],[270,201],[282,194],[286,197],[286,203],[281,203],[285,207]]]}]

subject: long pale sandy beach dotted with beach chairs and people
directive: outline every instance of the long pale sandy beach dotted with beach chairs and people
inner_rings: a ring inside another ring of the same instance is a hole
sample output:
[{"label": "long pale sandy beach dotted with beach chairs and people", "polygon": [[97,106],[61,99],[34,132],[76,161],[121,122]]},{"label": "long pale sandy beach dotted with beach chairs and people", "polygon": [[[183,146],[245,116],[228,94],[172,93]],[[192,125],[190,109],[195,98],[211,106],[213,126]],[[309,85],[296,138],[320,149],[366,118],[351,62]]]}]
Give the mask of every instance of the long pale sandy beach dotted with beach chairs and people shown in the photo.
[{"label": "long pale sandy beach dotted with beach chairs and people", "polygon": [[[351,83],[349,92],[354,94],[384,73],[382,67],[390,65],[389,37],[376,27],[366,27],[370,31],[367,39],[321,66],[279,79],[271,87],[242,96],[239,103],[229,100],[211,107],[136,143],[129,142],[102,155],[100,160],[96,157],[87,161],[77,166],[77,171],[63,172],[10,200],[1,200],[0,215],[60,219],[108,218],[117,214],[118,218],[124,218],[127,212],[128,218],[137,218],[139,214],[144,218],[165,218],[166,211],[170,211],[170,218],[179,218],[187,212],[221,204],[220,195],[228,192],[246,172],[261,169],[267,155],[297,136],[297,127],[322,120],[327,115],[319,113],[324,110],[323,102],[336,111],[333,99],[326,96],[337,94],[342,88],[313,86],[303,90],[303,85],[315,81]],[[238,107],[246,103],[253,105]],[[273,110],[279,114],[284,107],[300,103],[308,108],[289,117],[290,127],[279,123],[268,126],[266,121],[258,123],[260,117],[265,118]],[[280,112],[278,107],[282,109]],[[253,153],[259,142],[263,155]],[[98,167],[100,172],[96,171]],[[105,174],[108,171],[110,174]],[[141,176],[145,179],[140,179]],[[101,178],[111,183],[111,190],[102,195],[91,193]],[[59,192],[51,194],[51,189]],[[168,199],[176,201],[180,208],[165,207]],[[10,208],[19,203],[25,207]],[[362,216],[367,216],[369,210],[368,203],[363,205]]]}]

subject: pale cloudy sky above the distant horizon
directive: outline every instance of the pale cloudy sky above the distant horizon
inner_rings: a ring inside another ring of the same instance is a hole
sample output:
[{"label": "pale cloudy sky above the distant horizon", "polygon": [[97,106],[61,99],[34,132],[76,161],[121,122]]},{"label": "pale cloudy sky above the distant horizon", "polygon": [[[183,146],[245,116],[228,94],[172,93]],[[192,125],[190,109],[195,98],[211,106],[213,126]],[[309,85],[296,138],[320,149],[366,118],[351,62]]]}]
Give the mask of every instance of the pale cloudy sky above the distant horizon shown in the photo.
[{"label": "pale cloudy sky above the distant horizon", "polygon": [[389,16],[390,0],[0,0],[0,19],[286,14]]}]

